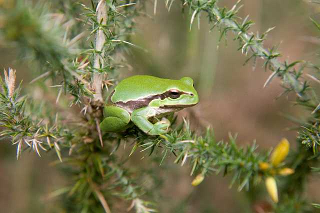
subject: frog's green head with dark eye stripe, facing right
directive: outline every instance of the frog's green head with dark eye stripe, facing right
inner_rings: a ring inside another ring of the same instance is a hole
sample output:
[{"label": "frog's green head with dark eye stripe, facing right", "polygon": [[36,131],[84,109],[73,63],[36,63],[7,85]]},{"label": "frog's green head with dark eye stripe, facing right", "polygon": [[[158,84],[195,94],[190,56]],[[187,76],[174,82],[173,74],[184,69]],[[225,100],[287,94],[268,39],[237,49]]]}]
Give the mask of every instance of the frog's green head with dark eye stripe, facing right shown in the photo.
[{"label": "frog's green head with dark eye stripe, facing right", "polygon": [[181,109],[195,105],[199,102],[199,97],[194,89],[193,80],[190,77],[182,77],[179,80],[170,80],[166,91],[161,98],[155,101],[155,106]]}]

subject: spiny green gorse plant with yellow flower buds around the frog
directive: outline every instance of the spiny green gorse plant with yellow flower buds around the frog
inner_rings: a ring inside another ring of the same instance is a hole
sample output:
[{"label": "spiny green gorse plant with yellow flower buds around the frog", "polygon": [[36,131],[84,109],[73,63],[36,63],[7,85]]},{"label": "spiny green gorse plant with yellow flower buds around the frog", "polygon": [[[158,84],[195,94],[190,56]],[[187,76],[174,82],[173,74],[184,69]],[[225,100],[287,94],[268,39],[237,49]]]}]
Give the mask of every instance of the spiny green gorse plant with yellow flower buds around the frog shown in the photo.
[{"label": "spiny green gorse plant with yellow flower buds around the frog", "polygon": [[[174,0],[165,0],[170,9]],[[298,130],[296,150],[289,152],[289,143],[282,139],[272,151],[258,152],[255,142],[245,148],[236,145],[236,137],[229,135],[227,142],[216,140],[210,128],[194,132],[189,121],[178,123],[168,133],[150,136],[136,127],[120,133],[101,132],[99,123],[109,88],[119,80],[118,69],[127,66],[123,53],[129,47],[134,32],[135,17],[144,14],[147,2],[141,0],[73,0],[33,6],[24,0],[0,1],[0,39],[13,45],[20,57],[37,64],[37,77],[30,86],[38,83],[56,96],[56,104],[63,110],[48,107],[48,112],[38,110],[32,96],[15,82],[19,70],[8,68],[1,79],[0,135],[16,145],[16,156],[31,149],[41,155],[53,149],[63,171],[70,175],[70,185],[53,192],[62,196],[66,212],[123,212],[116,203],[123,201],[136,212],[154,212],[156,204],[145,200],[151,194],[144,188],[141,177],[146,171],[131,171],[123,164],[128,156],[140,150],[144,159],[157,155],[158,164],[174,155],[174,163],[190,165],[194,175],[192,185],[198,185],[206,175],[222,172],[231,175],[237,189],[252,190],[264,184],[273,200],[272,212],[313,212],[304,195],[305,179],[311,166],[318,162],[320,138],[320,105],[316,91],[304,76],[319,81],[316,65],[303,60],[281,62],[275,47],[265,48],[265,33],[253,34],[248,17],[240,19],[239,1],[231,8],[218,6],[215,0],[181,0],[182,9],[190,14],[190,28],[200,15],[205,14],[212,29],[220,32],[220,40],[228,32],[239,43],[238,50],[248,56],[247,61],[261,58],[265,70],[271,74],[265,82],[278,77],[283,93],[295,92],[296,103],[310,111],[307,122]],[[156,10],[156,0],[154,9]],[[313,23],[320,29],[316,21]],[[199,22],[199,21],[198,21]],[[314,74],[305,74],[310,68]],[[39,82],[40,81],[40,82]],[[41,82],[42,81],[42,82]],[[44,85],[44,86],[43,86]],[[67,107],[61,102],[72,96]],[[50,105],[50,101],[43,101]],[[74,110],[80,111],[75,114]],[[59,113],[69,116],[60,116]],[[123,156],[118,147],[129,142],[131,151]],[[151,156],[150,156],[151,155]],[[285,159],[286,158],[286,159]],[[144,173],[143,173],[144,172]],[[280,187],[277,187],[280,183]],[[297,184],[298,183],[298,184]],[[119,200],[120,199],[120,200]],[[294,205],[293,205],[294,203]]]}]

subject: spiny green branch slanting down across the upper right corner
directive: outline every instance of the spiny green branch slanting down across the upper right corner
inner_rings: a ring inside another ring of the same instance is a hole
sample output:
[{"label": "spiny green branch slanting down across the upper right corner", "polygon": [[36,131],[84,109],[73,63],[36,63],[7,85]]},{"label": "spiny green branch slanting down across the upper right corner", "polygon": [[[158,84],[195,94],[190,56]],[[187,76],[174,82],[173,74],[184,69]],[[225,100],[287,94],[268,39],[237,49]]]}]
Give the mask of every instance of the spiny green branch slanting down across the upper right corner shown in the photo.
[{"label": "spiny green branch slanting down across the upper right corner", "polygon": [[[249,20],[248,16],[242,21],[238,21],[237,12],[241,8],[239,5],[240,1],[241,0],[238,0],[229,10],[227,8],[218,7],[216,0],[182,0],[182,3],[183,5],[188,5],[192,13],[190,25],[195,18],[200,17],[201,12],[205,12],[207,13],[209,22],[213,24],[212,28],[216,26],[219,29],[221,33],[220,40],[223,37],[226,37],[228,31],[231,31],[235,35],[234,40],[239,41],[240,46],[238,49],[245,55],[249,52],[251,53],[251,56],[247,61],[252,58],[254,60],[256,58],[262,58],[264,60],[263,66],[265,69],[268,68],[272,71],[264,86],[270,83],[275,76],[278,76],[281,78],[286,92],[294,91],[300,102],[311,100],[311,96],[306,92],[309,85],[307,85],[305,81],[300,80],[303,69],[309,64],[303,60],[294,61],[292,63],[288,63],[287,61],[280,62],[278,57],[281,54],[276,52],[274,47],[266,49],[263,46],[266,34],[274,27],[267,29],[266,32],[261,35],[249,32],[253,21]],[[295,65],[297,64],[300,64],[300,67],[296,70]]]}]

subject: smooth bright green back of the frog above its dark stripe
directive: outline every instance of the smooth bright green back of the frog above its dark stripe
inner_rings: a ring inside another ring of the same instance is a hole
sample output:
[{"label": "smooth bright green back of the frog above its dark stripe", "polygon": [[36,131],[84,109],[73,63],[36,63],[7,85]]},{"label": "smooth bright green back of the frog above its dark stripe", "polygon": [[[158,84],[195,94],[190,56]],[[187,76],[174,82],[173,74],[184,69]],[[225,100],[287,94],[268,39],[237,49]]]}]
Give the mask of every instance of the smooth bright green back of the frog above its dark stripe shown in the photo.
[{"label": "smooth bright green back of the frog above its dark stripe", "polygon": [[161,94],[170,86],[176,84],[176,81],[151,75],[133,75],[123,79],[116,85],[109,100],[113,103],[119,101],[127,102]]}]

